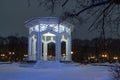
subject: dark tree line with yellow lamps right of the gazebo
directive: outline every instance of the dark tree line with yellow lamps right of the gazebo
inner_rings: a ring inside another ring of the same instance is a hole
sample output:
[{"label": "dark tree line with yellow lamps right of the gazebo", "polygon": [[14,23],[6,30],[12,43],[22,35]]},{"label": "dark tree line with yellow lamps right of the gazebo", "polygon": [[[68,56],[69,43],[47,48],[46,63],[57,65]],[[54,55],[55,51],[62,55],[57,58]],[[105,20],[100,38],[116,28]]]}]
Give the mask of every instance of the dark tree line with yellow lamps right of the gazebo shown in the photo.
[{"label": "dark tree line with yellow lamps right of the gazebo", "polygon": [[120,40],[101,38],[92,40],[74,39],[72,41],[72,58],[76,62],[115,62],[120,58]]}]

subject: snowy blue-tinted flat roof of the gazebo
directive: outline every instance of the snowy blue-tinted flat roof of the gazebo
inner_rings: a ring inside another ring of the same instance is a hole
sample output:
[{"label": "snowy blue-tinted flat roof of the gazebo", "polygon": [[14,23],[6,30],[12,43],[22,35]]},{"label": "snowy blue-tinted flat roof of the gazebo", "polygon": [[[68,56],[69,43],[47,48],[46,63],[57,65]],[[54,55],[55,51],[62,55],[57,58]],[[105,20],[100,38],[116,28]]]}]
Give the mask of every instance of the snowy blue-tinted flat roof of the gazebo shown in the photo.
[{"label": "snowy blue-tinted flat roof of the gazebo", "polygon": [[24,22],[26,27],[33,27],[38,24],[60,24],[63,25],[64,27],[68,27],[73,30],[73,25],[63,21],[62,23],[59,22],[59,19],[57,17],[37,17],[37,18],[32,18]]}]

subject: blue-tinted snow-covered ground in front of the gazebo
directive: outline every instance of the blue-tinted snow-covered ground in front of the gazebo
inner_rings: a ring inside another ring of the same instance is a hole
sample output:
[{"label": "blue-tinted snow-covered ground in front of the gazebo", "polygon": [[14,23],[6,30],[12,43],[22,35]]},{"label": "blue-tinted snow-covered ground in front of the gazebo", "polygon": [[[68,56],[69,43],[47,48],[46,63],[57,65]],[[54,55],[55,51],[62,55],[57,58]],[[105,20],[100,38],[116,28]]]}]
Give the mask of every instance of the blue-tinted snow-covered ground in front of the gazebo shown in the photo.
[{"label": "blue-tinted snow-covered ground in front of the gazebo", "polygon": [[0,80],[112,80],[107,66],[42,64],[0,64]]}]

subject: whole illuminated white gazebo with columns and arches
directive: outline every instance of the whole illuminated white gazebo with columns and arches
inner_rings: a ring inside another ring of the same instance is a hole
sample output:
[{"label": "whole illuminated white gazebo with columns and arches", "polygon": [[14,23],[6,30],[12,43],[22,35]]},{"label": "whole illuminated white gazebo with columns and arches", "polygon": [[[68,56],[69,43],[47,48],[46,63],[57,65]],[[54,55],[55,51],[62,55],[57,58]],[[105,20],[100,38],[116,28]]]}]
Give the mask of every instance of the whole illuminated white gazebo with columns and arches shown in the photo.
[{"label": "whole illuminated white gazebo with columns and arches", "polygon": [[[38,17],[25,22],[29,30],[28,61],[48,61],[48,44],[55,44],[55,61],[71,61],[72,25],[60,23],[56,17]],[[66,51],[61,53],[61,42],[65,42]],[[63,59],[64,57],[64,59]]]}]

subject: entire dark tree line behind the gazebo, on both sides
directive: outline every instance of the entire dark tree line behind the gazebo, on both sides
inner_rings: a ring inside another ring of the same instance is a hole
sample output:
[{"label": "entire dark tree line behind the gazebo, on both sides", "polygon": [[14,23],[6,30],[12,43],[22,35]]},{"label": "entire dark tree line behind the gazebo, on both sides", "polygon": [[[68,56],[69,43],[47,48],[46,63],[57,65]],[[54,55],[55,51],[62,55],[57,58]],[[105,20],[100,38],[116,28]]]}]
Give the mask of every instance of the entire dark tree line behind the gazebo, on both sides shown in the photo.
[{"label": "entire dark tree line behind the gazebo, on both sides", "polygon": [[[62,53],[65,53],[62,43]],[[23,61],[28,54],[28,38],[18,36],[0,37],[0,61]],[[53,51],[53,50],[51,50]],[[72,59],[75,62],[117,61],[120,58],[120,40],[107,38],[105,43],[101,38],[92,40],[72,40]],[[107,55],[103,57],[102,55]],[[117,57],[114,60],[114,57]]]}]

